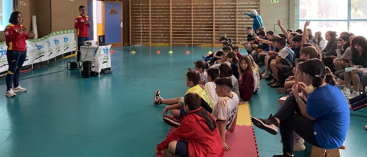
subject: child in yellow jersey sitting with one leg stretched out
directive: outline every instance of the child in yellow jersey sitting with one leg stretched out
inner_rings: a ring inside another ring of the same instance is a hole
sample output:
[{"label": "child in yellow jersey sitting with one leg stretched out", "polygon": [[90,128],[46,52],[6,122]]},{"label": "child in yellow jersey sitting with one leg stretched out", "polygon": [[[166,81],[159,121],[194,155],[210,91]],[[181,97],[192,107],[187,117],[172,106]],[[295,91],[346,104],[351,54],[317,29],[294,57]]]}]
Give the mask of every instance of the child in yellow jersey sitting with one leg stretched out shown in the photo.
[{"label": "child in yellow jersey sitting with one leg stretched out", "polygon": [[[186,86],[190,89],[186,93],[197,93],[201,97],[200,106],[206,109],[209,113],[212,113],[211,103],[209,101],[208,95],[205,93],[203,88],[198,84],[200,81],[200,73],[196,71],[189,71],[186,73]],[[166,104],[169,105],[163,110],[163,120],[173,127],[178,127],[180,121],[179,116],[185,114],[183,110],[184,100],[183,97],[173,98],[173,99],[163,99],[160,96],[159,89],[156,90],[153,99],[154,105]],[[166,115],[168,110],[171,110],[170,116]]]}]

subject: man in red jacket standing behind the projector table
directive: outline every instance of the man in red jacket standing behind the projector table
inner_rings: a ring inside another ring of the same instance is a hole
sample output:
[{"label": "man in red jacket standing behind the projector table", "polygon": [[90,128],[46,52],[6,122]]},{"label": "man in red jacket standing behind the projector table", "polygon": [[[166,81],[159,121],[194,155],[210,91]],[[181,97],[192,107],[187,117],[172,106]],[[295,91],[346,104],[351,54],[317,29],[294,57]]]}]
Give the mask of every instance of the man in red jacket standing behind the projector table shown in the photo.
[{"label": "man in red jacket standing behind the projector table", "polygon": [[89,17],[86,15],[86,7],[80,6],[79,12],[80,15],[78,15],[75,18],[75,25],[74,28],[76,29],[77,36],[78,36],[78,50],[77,50],[77,62],[80,62],[80,46],[84,45],[84,41],[89,40],[89,27],[91,25],[91,22],[89,21]]}]

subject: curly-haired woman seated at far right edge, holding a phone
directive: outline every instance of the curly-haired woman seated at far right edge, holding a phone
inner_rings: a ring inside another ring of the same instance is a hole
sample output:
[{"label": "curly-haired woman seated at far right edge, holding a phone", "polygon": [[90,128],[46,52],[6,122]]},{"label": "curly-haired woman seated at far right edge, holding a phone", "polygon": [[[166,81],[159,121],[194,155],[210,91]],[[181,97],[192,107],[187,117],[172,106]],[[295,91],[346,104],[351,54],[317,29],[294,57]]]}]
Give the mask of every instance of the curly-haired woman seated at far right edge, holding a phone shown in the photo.
[{"label": "curly-haired woman seated at far right edge, holding a phone", "polygon": [[[352,40],[352,54],[350,55],[350,62],[342,61],[348,67],[364,68],[367,67],[367,40],[363,36],[356,36]],[[340,76],[340,75],[339,75]],[[347,99],[354,98],[359,95],[361,91],[360,77],[357,73],[344,72],[345,87],[342,90]],[[353,92],[350,94],[350,81],[353,82]],[[349,95],[349,96],[348,96]]]}]

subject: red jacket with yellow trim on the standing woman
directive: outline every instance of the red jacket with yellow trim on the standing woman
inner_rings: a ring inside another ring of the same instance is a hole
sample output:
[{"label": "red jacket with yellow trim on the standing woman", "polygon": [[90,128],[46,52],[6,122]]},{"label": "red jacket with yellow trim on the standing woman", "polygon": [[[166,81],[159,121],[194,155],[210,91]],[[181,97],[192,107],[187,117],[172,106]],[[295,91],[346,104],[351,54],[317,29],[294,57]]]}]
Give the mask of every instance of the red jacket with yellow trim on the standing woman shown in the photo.
[{"label": "red jacket with yellow trim on the standing woman", "polygon": [[24,28],[23,25],[19,24],[12,24],[10,23],[5,27],[5,41],[6,45],[8,46],[8,50],[14,51],[25,51],[25,40],[29,39],[26,33],[19,34],[17,29]]}]

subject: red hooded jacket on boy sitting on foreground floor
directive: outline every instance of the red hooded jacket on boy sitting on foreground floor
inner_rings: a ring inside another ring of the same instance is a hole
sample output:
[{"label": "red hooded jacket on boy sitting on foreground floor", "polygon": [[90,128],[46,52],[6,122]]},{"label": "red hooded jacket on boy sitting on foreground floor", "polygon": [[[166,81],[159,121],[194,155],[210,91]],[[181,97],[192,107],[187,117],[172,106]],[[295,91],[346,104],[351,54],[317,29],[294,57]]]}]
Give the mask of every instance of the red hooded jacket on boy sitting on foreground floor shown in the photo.
[{"label": "red hooded jacket on boy sitting on foreground floor", "polygon": [[188,142],[189,157],[223,157],[224,147],[213,116],[205,109],[192,110],[183,115],[181,124],[157,146],[158,151],[168,148],[174,140]]}]

